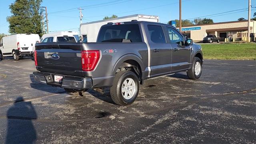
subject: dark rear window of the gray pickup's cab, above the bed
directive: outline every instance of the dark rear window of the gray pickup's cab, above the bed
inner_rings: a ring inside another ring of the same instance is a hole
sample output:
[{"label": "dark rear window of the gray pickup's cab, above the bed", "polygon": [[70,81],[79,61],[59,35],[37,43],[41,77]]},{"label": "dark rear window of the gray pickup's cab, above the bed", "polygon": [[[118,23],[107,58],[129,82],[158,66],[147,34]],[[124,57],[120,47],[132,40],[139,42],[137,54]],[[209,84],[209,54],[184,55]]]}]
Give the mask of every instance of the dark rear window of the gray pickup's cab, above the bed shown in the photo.
[{"label": "dark rear window of the gray pickup's cab, above the bed", "polygon": [[138,24],[102,26],[97,42],[142,42]]}]

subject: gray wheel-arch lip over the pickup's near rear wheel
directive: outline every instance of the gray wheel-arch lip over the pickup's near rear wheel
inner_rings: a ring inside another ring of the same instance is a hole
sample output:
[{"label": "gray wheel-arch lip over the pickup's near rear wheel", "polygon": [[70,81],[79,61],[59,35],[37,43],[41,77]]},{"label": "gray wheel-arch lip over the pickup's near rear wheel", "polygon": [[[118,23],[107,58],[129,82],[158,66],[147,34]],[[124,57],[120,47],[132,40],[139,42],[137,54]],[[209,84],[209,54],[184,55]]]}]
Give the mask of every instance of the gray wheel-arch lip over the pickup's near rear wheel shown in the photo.
[{"label": "gray wheel-arch lip over the pickup's near rear wheel", "polygon": [[118,69],[119,66],[121,66],[121,64],[123,62],[125,62],[126,60],[134,60],[136,62],[138,62],[138,64],[140,65],[140,70],[141,70],[141,74],[142,74],[142,71],[143,71],[143,68],[144,68],[144,65],[142,63],[142,60],[139,56],[135,55],[135,54],[125,54],[123,56],[121,56],[116,64],[114,65],[114,68],[112,70],[112,74],[115,75],[116,74],[116,70]]}]

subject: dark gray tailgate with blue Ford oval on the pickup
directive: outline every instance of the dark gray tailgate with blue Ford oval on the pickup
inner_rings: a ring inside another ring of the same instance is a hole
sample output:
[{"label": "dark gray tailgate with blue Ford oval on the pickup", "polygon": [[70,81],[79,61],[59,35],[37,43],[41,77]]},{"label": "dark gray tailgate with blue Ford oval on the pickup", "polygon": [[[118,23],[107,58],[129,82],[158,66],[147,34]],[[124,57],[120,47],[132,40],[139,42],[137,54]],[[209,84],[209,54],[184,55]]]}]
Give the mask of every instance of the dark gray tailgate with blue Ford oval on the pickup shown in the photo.
[{"label": "dark gray tailgate with blue Ford oval on the pickup", "polygon": [[37,44],[36,57],[41,72],[83,77],[80,43]]}]

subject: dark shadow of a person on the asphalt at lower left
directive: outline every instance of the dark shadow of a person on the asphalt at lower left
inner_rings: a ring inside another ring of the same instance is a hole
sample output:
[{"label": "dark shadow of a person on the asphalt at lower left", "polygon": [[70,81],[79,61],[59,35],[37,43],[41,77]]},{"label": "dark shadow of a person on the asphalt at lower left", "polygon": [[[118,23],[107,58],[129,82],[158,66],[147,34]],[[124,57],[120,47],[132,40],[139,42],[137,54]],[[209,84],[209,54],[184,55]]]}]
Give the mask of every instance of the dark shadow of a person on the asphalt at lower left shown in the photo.
[{"label": "dark shadow of a person on the asphalt at lower left", "polygon": [[32,103],[18,97],[6,115],[6,144],[34,144],[37,136],[32,120],[37,119],[37,114]]}]

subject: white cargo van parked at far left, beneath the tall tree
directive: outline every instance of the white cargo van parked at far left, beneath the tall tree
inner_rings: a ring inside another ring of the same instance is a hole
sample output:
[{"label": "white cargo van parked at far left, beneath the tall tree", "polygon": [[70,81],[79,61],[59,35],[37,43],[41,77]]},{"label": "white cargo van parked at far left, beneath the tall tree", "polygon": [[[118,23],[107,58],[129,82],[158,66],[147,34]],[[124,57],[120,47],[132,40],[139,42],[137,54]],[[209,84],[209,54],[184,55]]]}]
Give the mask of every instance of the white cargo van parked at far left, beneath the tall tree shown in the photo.
[{"label": "white cargo van parked at far left, beneath the tall tree", "polygon": [[0,43],[0,58],[13,56],[14,60],[19,60],[23,56],[32,56],[36,42],[40,41],[38,34],[14,34],[5,36]]}]

